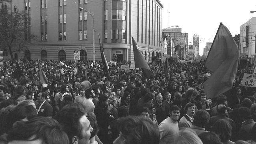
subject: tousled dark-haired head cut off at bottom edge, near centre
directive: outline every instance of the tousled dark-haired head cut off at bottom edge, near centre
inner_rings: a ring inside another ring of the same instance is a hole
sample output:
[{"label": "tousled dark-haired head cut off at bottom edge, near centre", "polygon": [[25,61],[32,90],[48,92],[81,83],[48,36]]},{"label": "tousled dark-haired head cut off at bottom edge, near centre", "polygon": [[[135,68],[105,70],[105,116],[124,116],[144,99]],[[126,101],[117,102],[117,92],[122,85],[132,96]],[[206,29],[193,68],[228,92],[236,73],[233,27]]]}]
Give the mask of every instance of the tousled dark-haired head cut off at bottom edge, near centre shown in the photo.
[{"label": "tousled dark-haired head cut off at bottom edge, near centre", "polygon": [[120,124],[120,131],[131,138],[131,144],[159,144],[160,133],[150,119],[142,116],[127,116]]}]

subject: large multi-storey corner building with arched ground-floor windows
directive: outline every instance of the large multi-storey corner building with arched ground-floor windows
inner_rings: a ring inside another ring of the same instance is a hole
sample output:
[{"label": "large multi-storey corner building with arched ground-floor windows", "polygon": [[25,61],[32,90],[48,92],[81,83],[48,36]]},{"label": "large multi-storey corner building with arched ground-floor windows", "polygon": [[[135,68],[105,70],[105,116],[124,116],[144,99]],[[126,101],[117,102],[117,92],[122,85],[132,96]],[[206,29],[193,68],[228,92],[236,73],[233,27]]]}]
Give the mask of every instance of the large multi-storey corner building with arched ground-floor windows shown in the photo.
[{"label": "large multi-storey corner building with arched ground-floor windows", "polygon": [[98,37],[108,61],[114,57],[133,61],[132,37],[148,61],[161,53],[163,6],[159,0],[7,1],[13,12],[28,11],[30,32],[38,37],[24,54],[16,53],[16,59],[73,59],[74,50],[80,50],[81,60],[92,60],[93,32],[95,60],[101,60]]}]

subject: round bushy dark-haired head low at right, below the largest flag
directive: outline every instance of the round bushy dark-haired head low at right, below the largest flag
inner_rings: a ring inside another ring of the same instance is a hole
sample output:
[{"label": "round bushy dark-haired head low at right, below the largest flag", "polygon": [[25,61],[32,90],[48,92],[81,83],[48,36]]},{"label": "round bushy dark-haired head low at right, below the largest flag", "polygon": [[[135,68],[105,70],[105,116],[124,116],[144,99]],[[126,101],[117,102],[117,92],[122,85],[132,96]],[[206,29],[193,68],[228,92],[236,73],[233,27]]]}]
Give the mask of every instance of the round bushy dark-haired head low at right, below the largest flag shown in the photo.
[{"label": "round bushy dark-haired head low at right, below the largest flag", "polygon": [[219,136],[221,142],[226,142],[231,137],[232,126],[229,124],[228,120],[221,119],[217,120],[217,122],[213,124],[211,131],[215,132]]}]

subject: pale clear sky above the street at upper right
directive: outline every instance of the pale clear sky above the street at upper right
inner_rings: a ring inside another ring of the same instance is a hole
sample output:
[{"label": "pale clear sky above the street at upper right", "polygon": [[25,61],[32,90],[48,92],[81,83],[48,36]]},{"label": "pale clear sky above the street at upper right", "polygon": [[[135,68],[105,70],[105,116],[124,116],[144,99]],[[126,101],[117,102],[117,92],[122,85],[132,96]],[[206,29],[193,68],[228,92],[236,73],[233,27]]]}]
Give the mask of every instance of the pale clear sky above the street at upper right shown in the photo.
[{"label": "pale clear sky above the street at upper right", "polygon": [[256,0],[161,0],[161,4],[162,28],[178,25],[192,43],[193,35],[199,35],[200,55],[206,42],[213,42],[221,22],[234,37],[242,24],[256,17],[256,12],[250,13],[256,11]]}]

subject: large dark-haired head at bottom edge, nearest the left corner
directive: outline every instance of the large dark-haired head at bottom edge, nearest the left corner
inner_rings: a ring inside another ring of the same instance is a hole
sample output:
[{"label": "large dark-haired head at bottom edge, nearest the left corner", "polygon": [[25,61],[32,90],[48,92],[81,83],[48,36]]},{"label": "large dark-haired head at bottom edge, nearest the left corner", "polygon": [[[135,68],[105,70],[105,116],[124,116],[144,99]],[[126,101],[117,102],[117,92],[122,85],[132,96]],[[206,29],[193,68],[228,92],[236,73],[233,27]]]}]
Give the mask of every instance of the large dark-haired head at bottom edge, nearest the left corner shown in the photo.
[{"label": "large dark-haired head at bottom edge, nearest the left corner", "polygon": [[40,116],[14,124],[8,133],[7,140],[9,142],[42,140],[46,144],[69,144],[67,134],[61,130],[56,120]]}]

